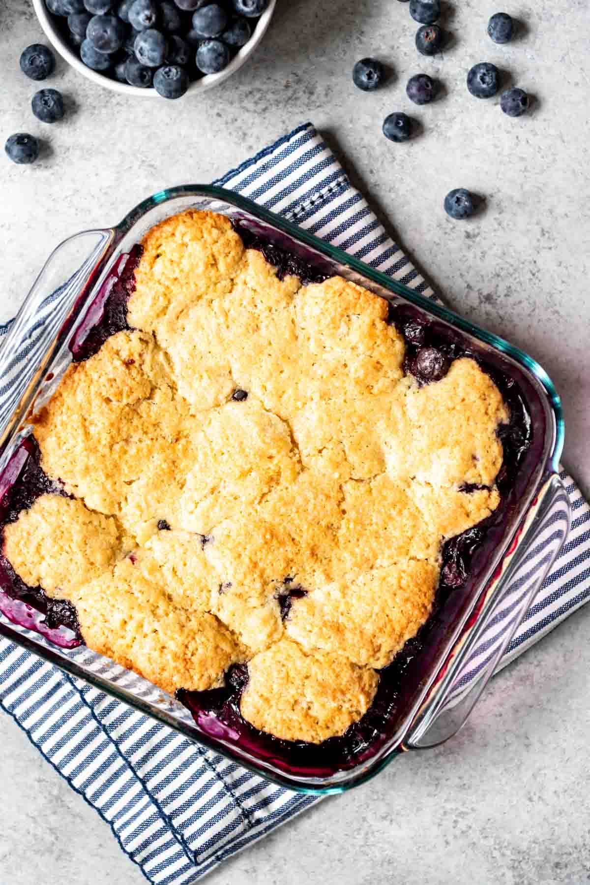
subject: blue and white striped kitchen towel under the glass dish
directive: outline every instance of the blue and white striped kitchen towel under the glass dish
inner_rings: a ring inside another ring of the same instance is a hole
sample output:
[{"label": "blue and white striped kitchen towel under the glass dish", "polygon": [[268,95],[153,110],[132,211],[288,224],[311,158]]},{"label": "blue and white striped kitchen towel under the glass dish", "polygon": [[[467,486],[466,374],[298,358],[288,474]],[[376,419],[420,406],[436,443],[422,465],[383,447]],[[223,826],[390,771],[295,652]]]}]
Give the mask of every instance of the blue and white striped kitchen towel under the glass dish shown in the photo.
[{"label": "blue and white striped kitchen towel under the glass dish", "polygon": [[[434,296],[310,124],[216,183]],[[50,317],[48,299],[23,342],[23,359],[34,346],[34,329]],[[0,335],[7,328],[0,328]],[[3,378],[0,409],[10,401],[17,379],[18,360]],[[504,663],[590,597],[590,507],[574,481],[562,475],[571,498],[571,535]],[[318,801],[189,743],[6,640],[0,640],[0,703],[50,765],[110,823],[121,848],[154,885],[198,881]]]}]

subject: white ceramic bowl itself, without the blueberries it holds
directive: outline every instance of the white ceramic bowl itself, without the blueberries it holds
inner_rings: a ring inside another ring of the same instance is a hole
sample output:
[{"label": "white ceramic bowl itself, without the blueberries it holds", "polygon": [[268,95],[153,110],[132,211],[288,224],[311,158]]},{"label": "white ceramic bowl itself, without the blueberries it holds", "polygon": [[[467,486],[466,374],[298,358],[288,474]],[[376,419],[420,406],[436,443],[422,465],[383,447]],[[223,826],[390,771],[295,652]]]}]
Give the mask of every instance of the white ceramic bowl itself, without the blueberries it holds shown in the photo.
[{"label": "white ceramic bowl itself, without the blueberries it holds", "polygon": [[[254,33],[250,37],[249,42],[247,42],[245,46],[242,46],[237,55],[232,58],[229,65],[219,73],[208,73],[202,77],[201,80],[191,82],[188,87],[188,92],[186,93],[187,95],[195,96],[199,92],[204,92],[205,89],[212,89],[213,86],[217,86],[218,83],[227,80],[228,77],[231,77],[233,73],[241,68],[241,65],[247,61],[254,50],[256,50],[258,43],[262,40],[264,32],[272,19],[272,13],[274,12],[276,2],[277,0],[269,0],[268,6],[257,20],[257,26],[255,27]],[[65,58],[65,61],[68,62],[69,65],[72,65],[76,71],[79,71],[87,77],[88,80],[92,80],[93,82],[98,83],[99,86],[106,87],[106,89],[111,89],[113,92],[120,92],[125,96],[142,96],[142,98],[160,97],[157,94],[156,89],[141,89],[138,86],[129,86],[128,83],[119,83],[118,80],[111,80],[110,77],[105,77],[103,73],[91,70],[91,68],[87,67],[81,61],[80,56],[65,42],[64,38],[57,30],[54,23],[55,19],[48,11],[45,5],[45,0],[33,0],[33,6],[34,11],[37,13],[37,18],[41,23],[41,27],[50,43],[55,47],[59,55],[62,58]]]}]

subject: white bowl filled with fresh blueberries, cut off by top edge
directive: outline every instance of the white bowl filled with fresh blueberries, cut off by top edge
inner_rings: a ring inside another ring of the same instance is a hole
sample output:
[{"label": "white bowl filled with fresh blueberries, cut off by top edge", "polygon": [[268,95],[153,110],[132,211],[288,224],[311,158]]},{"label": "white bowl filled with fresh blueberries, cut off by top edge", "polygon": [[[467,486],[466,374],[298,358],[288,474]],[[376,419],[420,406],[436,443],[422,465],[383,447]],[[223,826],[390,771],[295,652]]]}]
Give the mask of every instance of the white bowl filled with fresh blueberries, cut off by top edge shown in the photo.
[{"label": "white bowl filled with fresh blueberries, cut off by top edge", "polygon": [[57,52],[88,80],[129,96],[180,98],[235,73],[276,0],[33,0]]}]

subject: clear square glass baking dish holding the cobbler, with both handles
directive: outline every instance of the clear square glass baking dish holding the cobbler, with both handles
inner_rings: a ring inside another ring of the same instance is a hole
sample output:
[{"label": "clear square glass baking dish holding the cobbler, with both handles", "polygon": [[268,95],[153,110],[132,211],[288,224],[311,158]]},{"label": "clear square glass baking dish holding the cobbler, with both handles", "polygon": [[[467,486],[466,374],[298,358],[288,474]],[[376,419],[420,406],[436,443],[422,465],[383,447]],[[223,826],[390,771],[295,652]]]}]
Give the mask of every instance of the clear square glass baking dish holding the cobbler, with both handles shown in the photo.
[{"label": "clear square glass baking dish holding the cobbler, with both handles", "polygon": [[387,708],[379,740],[348,766],[303,769],[280,749],[258,752],[231,728],[195,720],[186,706],[135,673],[85,646],[71,647],[65,628],[51,630],[42,614],[1,590],[0,634],[272,781],[305,792],[339,792],[365,781],[403,750],[432,747],[454,735],[494,673],[570,525],[568,496],[557,474],[563,449],[559,397],[533,358],[496,335],[242,196],[188,185],[149,197],[117,227],[74,235],[42,269],[0,352],[0,498],[23,463],[22,443],[31,431],[27,416],[50,398],[72,360],[71,345],[100,316],[110,275],[150,227],[189,208],[222,212],[319,273],[360,283],[517,385],[533,443],[518,468],[502,524],[489,530],[492,544],[487,540],[474,555],[470,579],[439,605],[421,642],[406,653],[402,688]]}]

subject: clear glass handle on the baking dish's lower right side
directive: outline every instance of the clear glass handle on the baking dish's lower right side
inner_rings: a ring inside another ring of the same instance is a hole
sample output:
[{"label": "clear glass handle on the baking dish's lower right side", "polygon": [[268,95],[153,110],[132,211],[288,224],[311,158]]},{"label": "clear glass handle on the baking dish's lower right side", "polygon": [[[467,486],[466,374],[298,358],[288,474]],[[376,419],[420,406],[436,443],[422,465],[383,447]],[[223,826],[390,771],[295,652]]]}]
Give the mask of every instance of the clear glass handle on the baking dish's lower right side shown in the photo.
[{"label": "clear glass handle on the baking dish's lower right side", "polygon": [[570,529],[570,500],[551,473],[520,528],[520,537],[494,576],[474,623],[450,652],[403,741],[423,750],[448,740],[464,725],[545,581]]}]

